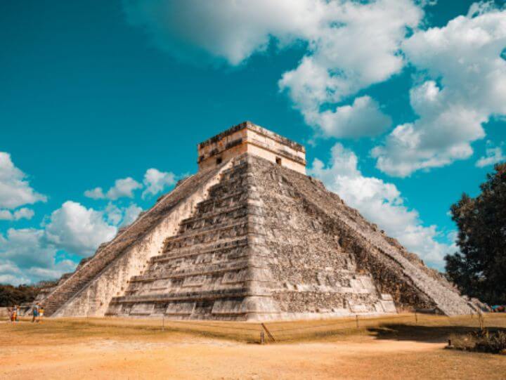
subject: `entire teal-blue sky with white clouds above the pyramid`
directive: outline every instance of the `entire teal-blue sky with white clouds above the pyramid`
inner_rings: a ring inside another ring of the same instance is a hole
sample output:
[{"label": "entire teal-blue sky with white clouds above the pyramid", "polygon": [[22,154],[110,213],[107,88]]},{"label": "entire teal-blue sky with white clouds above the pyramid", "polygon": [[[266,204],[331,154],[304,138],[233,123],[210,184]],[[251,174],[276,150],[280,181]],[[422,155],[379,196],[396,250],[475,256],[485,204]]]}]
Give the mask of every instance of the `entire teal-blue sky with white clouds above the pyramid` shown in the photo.
[{"label": "entire teal-blue sky with white clouds above the pyramid", "polygon": [[0,282],[72,270],[247,119],[442,270],[450,204],[505,159],[503,6],[2,2]]}]

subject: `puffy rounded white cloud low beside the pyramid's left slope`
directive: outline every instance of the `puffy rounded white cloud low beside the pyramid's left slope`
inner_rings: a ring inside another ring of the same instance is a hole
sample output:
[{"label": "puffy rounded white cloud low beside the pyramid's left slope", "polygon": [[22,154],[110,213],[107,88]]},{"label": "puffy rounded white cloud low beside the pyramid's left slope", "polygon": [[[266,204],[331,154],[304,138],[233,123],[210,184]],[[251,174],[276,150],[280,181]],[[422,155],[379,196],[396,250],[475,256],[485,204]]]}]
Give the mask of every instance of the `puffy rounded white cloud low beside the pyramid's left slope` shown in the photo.
[{"label": "puffy rounded white cloud low beside the pyramid's left slope", "polygon": [[104,220],[103,212],[67,201],[53,211],[44,225],[48,242],[60,249],[89,256],[100,243],[111,240],[117,228]]}]

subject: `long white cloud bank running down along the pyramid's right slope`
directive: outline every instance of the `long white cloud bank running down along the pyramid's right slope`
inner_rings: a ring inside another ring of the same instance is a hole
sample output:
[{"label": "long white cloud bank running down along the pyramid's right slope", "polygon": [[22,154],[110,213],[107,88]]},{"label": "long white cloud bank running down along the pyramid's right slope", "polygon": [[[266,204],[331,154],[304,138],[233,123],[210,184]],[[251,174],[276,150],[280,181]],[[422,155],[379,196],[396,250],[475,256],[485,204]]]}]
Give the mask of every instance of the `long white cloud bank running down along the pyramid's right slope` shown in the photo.
[{"label": "long white cloud bank running down along the pyramid's right slope", "polygon": [[417,211],[406,207],[396,185],[363,176],[355,153],[340,143],[332,148],[327,166],[315,159],[309,173],[429,265],[442,269],[444,255],[455,251],[436,240],[440,234],[435,225],[424,226]]}]

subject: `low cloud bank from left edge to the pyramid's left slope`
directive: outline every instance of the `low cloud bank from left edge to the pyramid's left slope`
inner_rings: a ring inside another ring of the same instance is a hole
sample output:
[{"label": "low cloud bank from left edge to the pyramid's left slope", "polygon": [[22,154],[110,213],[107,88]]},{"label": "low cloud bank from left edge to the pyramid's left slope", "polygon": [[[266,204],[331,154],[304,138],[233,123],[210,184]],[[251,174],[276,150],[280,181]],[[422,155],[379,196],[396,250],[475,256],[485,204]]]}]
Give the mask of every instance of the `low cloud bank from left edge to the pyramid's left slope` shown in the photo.
[{"label": "low cloud bank from left edge to the pyramid's left slope", "polygon": [[115,237],[117,225],[131,223],[141,211],[134,203],[128,207],[110,203],[97,211],[67,201],[46,218],[41,228],[10,228],[6,235],[0,233],[0,283],[55,279],[74,270],[74,261],[56,260],[58,252],[90,256],[100,244]]}]

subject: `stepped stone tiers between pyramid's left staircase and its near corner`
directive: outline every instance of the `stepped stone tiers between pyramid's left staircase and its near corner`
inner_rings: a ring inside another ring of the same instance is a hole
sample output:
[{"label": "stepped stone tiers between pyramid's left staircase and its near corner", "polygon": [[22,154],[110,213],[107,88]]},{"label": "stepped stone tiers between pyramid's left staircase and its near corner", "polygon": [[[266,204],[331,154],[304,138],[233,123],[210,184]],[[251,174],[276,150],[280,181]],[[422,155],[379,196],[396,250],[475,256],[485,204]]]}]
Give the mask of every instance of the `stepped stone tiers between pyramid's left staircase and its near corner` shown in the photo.
[{"label": "stepped stone tiers between pyramid's left staircase and its near corner", "polygon": [[112,299],[108,315],[245,319],[252,200],[247,166],[243,159],[223,171],[193,216],[167,237],[162,254],[131,278],[124,296]]}]

